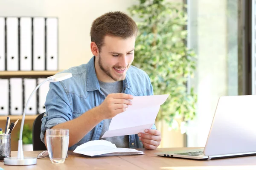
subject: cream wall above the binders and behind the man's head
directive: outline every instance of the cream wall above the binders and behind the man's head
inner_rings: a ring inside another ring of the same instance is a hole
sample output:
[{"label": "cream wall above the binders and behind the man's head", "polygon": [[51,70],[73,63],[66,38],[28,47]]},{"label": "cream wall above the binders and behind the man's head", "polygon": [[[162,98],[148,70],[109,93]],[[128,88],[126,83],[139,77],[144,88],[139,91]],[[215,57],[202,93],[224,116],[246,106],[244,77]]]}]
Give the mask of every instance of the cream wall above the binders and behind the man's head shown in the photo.
[{"label": "cream wall above the binders and behind the man's head", "polygon": [[0,16],[59,18],[59,69],[89,61],[90,26],[109,11],[123,11],[138,0],[0,0]]}]

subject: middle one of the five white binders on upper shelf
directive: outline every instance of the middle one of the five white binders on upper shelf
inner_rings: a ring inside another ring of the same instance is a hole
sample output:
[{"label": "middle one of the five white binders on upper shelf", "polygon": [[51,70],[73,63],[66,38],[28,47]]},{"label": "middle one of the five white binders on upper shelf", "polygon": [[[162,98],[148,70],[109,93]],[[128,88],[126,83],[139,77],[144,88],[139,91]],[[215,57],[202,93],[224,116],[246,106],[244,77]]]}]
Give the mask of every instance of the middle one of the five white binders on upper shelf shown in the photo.
[{"label": "middle one of the five white binders on upper shelf", "polygon": [[20,18],[20,70],[32,70],[32,18]]}]

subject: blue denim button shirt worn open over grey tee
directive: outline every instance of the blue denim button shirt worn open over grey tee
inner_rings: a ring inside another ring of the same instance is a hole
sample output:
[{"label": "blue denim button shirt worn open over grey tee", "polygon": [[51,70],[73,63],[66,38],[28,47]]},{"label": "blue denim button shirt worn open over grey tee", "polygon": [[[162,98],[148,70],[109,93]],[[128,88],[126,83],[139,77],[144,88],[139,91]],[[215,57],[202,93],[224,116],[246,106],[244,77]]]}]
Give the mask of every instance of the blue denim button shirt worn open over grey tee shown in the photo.
[{"label": "blue denim button shirt worn open over grey tee", "polygon": [[[42,118],[41,125],[42,142],[44,142],[46,129],[75,119],[86,111],[99,106],[104,101],[105,95],[100,90],[94,59],[95,57],[93,56],[87,64],[62,71],[62,73],[72,73],[71,78],[50,83],[45,102],[46,112]],[[133,96],[153,95],[153,87],[148,75],[131,65],[126,73],[125,80],[123,80],[122,93]],[[78,143],[71,146],[69,150],[74,150],[77,146],[90,140],[99,140],[102,126],[103,121],[96,125]],[[155,125],[153,125],[152,129],[156,129]],[[129,135],[129,146],[130,148],[143,147],[137,134]]]}]

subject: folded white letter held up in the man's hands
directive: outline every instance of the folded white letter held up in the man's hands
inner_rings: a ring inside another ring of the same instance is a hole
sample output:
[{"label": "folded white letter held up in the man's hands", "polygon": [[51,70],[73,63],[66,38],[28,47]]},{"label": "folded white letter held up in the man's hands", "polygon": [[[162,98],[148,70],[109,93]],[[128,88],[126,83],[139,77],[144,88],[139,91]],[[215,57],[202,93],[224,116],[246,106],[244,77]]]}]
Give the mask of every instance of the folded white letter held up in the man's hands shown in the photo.
[{"label": "folded white letter held up in the man's hands", "polygon": [[154,125],[157,113],[169,94],[134,96],[127,110],[112,118],[108,131],[102,138],[133,135],[144,132]]}]

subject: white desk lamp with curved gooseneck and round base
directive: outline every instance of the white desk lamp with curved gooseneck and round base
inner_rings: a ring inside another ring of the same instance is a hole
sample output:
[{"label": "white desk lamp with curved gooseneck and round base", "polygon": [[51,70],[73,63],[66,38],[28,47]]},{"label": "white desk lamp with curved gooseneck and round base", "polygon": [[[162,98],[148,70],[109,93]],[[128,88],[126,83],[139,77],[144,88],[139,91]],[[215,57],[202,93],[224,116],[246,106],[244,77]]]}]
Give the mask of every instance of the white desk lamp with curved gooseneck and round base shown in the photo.
[{"label": "white desk lamp with curved gooseneck and round base", "polygon": [[47,77],[46,80],[41,82],[38,86],[36,86],[34,91],[32,91],[32,94],[30,94],[29,99],[26,102],[26,106],[25,106],[24,111],[23,111],[23,116],[22,116],[21,125],[20,125],[20,139],[19,139],[19,144],[18,144],[17,157],[6,157],[6,158],[4,158],[3,160],[4,160],[5,165],[33,165],[33,164],[36,164],[36,159],[37,158],[24,157],[23,148],[22,148],[22,131],[23,131],[23,125],[24,125],[26,110],[27,110],[29,101],[30,101],[31,97],[33,96],[33,94],[35,93],[35,91],[37,91],[37,89],[42,84],[44,84],[45,82],[47,82],[47,81],[49,81],[49,82],[59,82],[61,80],[68,79],[70,77],[72,77],[71,73],[55,74],[54,76]]}]

